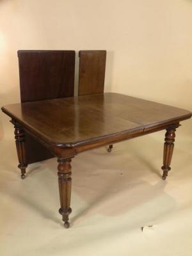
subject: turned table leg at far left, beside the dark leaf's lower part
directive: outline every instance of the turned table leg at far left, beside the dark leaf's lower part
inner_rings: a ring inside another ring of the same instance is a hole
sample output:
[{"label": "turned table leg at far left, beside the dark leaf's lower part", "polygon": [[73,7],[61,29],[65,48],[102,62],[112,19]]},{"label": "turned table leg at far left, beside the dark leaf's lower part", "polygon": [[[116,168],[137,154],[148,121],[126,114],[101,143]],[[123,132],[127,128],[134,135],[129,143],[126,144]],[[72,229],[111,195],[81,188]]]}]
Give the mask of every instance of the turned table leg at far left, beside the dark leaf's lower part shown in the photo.
[{"label": "turned table leg at far left, beside the dark leaf's lower part", "polygon": [[17,156],[19,160],[18,168],[21,171],[21,179],[26,177],[26,168],[28,166],[26,160],[26,148],[25,148],[25,132],[21,125],[14,123],[15,127],[15,143],[17,148]]}]

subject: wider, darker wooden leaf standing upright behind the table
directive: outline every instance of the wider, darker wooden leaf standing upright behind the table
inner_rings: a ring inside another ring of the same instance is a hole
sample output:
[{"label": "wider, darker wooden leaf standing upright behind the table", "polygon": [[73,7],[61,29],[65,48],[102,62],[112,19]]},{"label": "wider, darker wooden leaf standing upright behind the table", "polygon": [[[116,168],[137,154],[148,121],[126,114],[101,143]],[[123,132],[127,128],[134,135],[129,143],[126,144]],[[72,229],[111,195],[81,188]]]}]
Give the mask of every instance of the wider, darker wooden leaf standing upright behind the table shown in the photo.
[{"label": "wider, darker wooden leaf standing upright behind the table", "polygon": [[[75,51],[18,51],[20,100],[74,96]],[[28,164],[54,157],[26,132]]]}]

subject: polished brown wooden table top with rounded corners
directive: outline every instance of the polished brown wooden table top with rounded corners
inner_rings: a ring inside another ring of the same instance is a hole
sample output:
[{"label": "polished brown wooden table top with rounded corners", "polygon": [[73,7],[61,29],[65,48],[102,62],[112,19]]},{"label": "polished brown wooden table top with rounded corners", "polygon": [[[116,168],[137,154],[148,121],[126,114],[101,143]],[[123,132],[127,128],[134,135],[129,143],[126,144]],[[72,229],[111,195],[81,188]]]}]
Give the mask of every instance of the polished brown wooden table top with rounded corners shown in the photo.
[{"label": "polished brown wooden table top with rounded corners", "polygon": [[184,109],[119,93],[10,104],[2,110],[43,140],[67,147],[179,122],[192,115]]}]

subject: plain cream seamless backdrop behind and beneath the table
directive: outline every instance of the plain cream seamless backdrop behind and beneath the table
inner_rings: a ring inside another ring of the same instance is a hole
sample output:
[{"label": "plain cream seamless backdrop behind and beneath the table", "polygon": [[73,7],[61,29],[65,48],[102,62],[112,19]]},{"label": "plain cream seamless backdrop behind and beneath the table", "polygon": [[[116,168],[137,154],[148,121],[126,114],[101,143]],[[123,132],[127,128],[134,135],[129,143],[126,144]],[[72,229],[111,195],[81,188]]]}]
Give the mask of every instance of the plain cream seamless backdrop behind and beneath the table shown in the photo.
[{"label": "plain cream seamless backdrop behind and beneath the table", "polygon": [[[192,0],[0,0],[1,106],[20,102],[19,49],[106,49],[106,92],[192,111]],[[191,256],[191,120],[167,180],[164,131],[75,157],[68,230],[56,159],[21,180],[9,120],[0,111],[0,255]]]}]

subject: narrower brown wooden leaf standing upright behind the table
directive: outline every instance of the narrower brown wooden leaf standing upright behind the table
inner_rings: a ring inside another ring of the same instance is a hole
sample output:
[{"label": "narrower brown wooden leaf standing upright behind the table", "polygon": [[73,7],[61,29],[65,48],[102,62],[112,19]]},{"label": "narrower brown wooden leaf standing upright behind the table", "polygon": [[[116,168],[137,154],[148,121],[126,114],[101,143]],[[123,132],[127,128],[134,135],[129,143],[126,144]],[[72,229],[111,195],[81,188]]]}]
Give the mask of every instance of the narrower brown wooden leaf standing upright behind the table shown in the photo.
[{"label": "narrower brown wooden leaf standing upright behind the table", "polygon": [[103,93],[106,51],[79,51],[79,95]]}]

